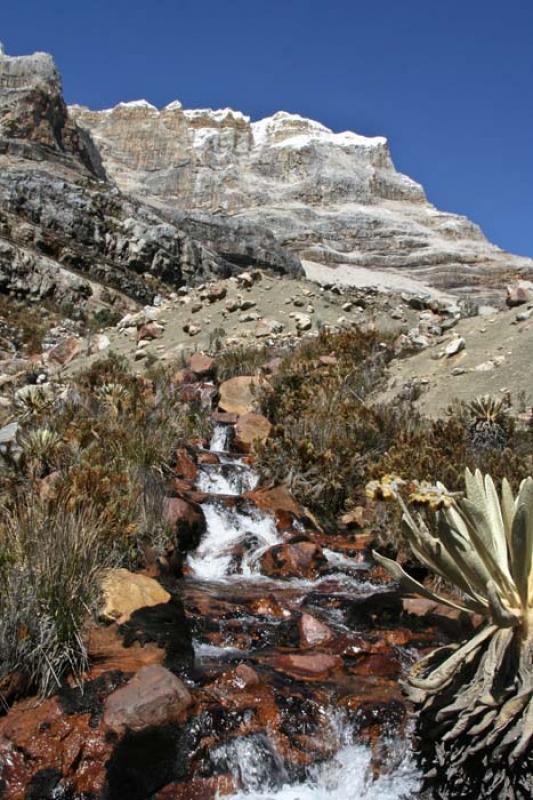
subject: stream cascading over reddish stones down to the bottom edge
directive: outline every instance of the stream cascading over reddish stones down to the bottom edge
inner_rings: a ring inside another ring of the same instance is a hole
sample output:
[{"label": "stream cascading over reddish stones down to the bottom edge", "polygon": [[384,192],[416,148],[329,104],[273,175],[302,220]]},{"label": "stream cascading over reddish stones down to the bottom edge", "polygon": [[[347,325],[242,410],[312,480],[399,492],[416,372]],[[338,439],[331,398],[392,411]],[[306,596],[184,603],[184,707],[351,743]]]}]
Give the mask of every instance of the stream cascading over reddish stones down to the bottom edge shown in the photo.
[{"label": "stream cascading over reddish stones down to the bottom edge", "polygon": [[[385,648],[364,615],[357,624],[354,599],[356,608],[357,601],[366,608],[365,600],[378,588],[361,558],[324,547],[319,575],[264,574],[262,559],[270,548],[305,538],[306,526],[293,520],[279,530],[273,513],[242,499],[258,478],[230,452],[229,431],[229,426],[216,426],[210,451],[219,463],[200,467],[196,488],[207,494],[202,504],[207,530],[187,558],[182,581],[197,680],[225,680],[228,670],[245,664],[259,674],[268,698],[264,702],[275,701],[282,712],[265,712],[271,719],[257,730],[244,717],[242,735],[229,731],[212,748],[213,770],[233,779],[233,793],[220,796],[416,797],[419,780],[408,738],[402,725],[387,719],[389,709],[399,706],[397,668],[410,659],[409,643],[398,638],[397,645],[385,631],[385,639],[392,641]],[[383,594],[383,587],[379,590]],[[296,623],[302,615],[311,626],[311,640],[316,639],[314,647],[309,642],[302,646],[303,622],[299,634]],[[380,709],[385,718],[372,718]]]}]

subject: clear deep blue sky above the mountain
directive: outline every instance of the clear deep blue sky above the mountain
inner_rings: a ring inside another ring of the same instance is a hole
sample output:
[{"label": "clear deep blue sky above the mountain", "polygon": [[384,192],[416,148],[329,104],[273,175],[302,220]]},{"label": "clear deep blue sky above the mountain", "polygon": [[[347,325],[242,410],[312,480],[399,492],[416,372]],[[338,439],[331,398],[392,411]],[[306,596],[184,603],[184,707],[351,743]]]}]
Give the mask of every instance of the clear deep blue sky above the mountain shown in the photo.
[{"label": "clear deep blue sky above the mountain", "polygon": [[18,0],[68,102],[283,109],[388,136],[432,202],[533,256],[533,0]]}]

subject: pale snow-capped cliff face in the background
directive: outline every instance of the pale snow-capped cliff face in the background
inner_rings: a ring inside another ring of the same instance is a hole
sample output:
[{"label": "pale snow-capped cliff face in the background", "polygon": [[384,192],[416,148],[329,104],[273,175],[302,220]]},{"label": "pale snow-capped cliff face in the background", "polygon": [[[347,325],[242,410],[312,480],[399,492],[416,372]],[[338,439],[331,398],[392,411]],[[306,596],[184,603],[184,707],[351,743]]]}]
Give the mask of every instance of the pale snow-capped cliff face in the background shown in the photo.
[{"label": "pale snow-capped cliff face in the background", "polygon": [[231,109],[191,111],[179,102],[70,113],[122,189],[159,206],[259,223],[305,260],[483,291],[533,267],[491,245],[465,217],[432,206],[396,171],[383,137],[333,133],[284,112],[251,122]]}]

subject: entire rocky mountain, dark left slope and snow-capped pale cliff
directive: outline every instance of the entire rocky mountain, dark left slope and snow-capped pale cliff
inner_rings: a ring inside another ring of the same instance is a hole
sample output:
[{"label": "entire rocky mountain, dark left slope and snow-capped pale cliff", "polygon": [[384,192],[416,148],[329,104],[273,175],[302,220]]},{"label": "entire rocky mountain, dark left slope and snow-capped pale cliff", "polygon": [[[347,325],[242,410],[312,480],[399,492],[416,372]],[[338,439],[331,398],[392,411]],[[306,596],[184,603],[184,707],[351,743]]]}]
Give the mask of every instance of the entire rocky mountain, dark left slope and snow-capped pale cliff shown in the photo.
[{"label": "entire rocky mountain, dark left slope and snow-capped pale cliff", "polygon": [[0,48],[0,292],[148,302],[249,266],[484,296],[533,271],[430,205],[382,137],[177,101],[67,108],[50,55]]}]

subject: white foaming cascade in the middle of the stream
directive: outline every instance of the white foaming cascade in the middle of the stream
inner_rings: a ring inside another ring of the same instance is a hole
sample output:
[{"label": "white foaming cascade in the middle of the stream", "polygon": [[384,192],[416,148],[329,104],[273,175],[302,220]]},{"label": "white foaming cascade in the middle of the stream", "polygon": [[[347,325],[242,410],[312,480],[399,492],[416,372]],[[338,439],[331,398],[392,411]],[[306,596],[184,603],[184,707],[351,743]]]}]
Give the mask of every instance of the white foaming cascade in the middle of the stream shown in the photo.
[{"label": "white foaming cascade in the middle of the stream", "polygon": [[[262,554],[281,541],[272,517],[259,509],[239,511],[218,503],[205,503],[203,510],[207,533],[187,560],[190,574],[205,581],[259,577]],[[242,544],[245,551],[236,568],[234,553]]]}]

